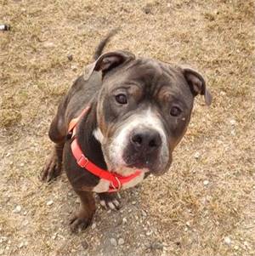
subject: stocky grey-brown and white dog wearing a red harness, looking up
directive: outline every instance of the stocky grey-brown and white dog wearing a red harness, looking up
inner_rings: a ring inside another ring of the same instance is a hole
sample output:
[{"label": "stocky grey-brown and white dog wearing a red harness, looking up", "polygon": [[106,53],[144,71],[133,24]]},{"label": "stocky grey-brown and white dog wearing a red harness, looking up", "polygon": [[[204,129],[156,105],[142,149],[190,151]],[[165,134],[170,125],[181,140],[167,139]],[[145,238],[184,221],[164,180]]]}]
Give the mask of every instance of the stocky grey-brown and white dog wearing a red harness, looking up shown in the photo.
[{"label": "stocky grey-brown and white dog wearing a red harness, looking up", "polygon": [[60,102],[48,132],[54,149],[42,180],[57,177],[63,165],[81,201],[70,221],[72,231],[91,223],[94,192],[105,208],[117,209],[116,191],[139,184],[148,174],[167,172],[195,96],[212,102],[204,78],[189,67],[123,50],[102,54],[114,33],[99,43],[94,63]]}]

